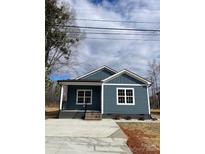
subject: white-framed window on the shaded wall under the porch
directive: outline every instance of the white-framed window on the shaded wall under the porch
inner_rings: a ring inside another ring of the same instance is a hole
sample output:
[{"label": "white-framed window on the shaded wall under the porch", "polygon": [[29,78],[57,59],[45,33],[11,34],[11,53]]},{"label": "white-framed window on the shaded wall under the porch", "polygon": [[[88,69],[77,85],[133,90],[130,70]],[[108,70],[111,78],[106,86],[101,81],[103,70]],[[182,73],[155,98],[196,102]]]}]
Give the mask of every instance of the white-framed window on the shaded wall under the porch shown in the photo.
[{"label": "white-framed window on the shaded wall under the porch", "polygon": [[76,104],[92,104],[92,90],[91,89],[77,89]]}]

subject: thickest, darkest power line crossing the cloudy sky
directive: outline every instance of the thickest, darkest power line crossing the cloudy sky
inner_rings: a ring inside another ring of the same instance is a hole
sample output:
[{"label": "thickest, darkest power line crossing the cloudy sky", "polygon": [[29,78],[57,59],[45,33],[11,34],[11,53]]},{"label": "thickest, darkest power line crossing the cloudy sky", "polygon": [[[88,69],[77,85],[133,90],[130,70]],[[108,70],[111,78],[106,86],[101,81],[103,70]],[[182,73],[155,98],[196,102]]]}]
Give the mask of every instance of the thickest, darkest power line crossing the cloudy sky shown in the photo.
[{"label": "thickest, darkest power line crossing the cloudy sky", "polygon": [[134,29],[134,28],[90,27],[90,26],[70,26],[70,25],[65,25],[65,27],[83,28],[83,29],[85,28],[85,29],[105,29],[105,30],[127,30],[127,31],[160,32],[159,29]]}]

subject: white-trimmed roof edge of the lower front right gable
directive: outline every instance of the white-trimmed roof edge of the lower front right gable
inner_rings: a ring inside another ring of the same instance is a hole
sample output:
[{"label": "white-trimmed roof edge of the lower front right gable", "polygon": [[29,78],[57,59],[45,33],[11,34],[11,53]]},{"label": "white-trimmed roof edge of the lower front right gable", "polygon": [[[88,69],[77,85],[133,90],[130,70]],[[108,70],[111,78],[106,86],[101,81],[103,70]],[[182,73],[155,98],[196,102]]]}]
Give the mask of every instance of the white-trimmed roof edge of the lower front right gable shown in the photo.
[{"label": "white-trimmed roof edge of the lower front right gable", "polygon": [[139,75],[137,75],[137,74],[135,74],[135,73],[133,73],[133,72],[131,72],[129,70],[126,70],[126,69],[124,69],[124,70],[122,70],[122,71],[120,71],[120,72],[118,72],[118,73],[116,73],[116,74],[114,74],[114,75],[112,75],[112,76],[102,80],[102,81],[103,82],[108,82],[108,81],[110,81],[110,80],[112,80],[112,79],[114,79],[114,78],[116,78],[116,77],[118,77],[118,76],[120,76],[122,74],[127,74],[128,76],[130,76],[130,77],[132,77],[134,79],[137,79],[137,80],[139,80],[139,81],[141,81],[141,82],[143,82],[145,84],[148,84],[148,85],[151,84],[150,81],[148,81],[148,80],[144,79],[143,77],[141,77],[141,76],[139,76]]}]

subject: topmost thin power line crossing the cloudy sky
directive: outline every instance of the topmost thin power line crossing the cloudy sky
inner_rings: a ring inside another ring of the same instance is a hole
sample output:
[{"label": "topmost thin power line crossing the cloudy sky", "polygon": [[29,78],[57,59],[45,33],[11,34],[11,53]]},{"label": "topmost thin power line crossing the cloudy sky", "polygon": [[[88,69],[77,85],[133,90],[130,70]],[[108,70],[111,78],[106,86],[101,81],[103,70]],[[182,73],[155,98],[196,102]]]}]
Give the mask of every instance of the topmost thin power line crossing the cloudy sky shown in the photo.
[{"label": "topmost thin power line crossing the cloudy sky", "polygon": [[103,19],[72,19],[72,20],[81,20],[81,21],[99,21],[99,22],[125,22],[125,23],[149,23],[149,24],[159,24],[159,22],[152,22],[152,21],[120,21],[120,20],[103,20]]}]

